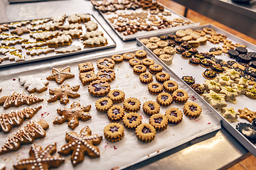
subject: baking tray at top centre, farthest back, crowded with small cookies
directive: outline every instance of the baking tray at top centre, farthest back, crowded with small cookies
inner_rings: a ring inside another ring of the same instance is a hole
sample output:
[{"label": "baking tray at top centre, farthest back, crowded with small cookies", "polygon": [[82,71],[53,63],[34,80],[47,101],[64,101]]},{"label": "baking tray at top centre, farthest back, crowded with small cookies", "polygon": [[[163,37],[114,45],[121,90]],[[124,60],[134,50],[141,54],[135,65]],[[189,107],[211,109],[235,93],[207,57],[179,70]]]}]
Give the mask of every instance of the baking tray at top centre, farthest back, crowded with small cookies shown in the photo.
[{"label": "baking tray at top centre, farthest back, crowded with small cookies", "polygon": [[[161,4],[161,3],[158,2],[158,4]],[[161,6],[164,6],[164,5],[161,4]],[[171,12],[171,18],[172,19],[174,19],[174,18],[183,18],[185,21],[191,21],[188,18],[186,18],[184,16],[181,16],[180,14],[176,13],[175,11],[172,11],[170,8],[167,8],[166,6],[164,6],[164,10]],[[122,33],[115,30],[114,27],[112,26],[112,23],[110,23],[110,21],[108,20],[108,18],[110,18],[111,14],[107,15],[106,13],[102,13],[102,11],[100,11],[100,10],[98,10],[98,11],[102,15],[102,17],[105,19],[105,21],[107,21],[107,23],[110,25],[110,27],[114,30],[114,32],[117,33],[119,38],[121,38],[123,41],[135,40],[137,37],[142,37],[142,36],[147,36],[147,35],[154,35],[154,34],[159,33],[159,32],[167,33],[167,32],[170,32],[170,31],[191,28],[191,27],[194,27],[194,26],[199,26],[199,24],[200,24],[200,23],[191,23],[191,24],[186,25],[186,26],[176,26],[176,27],[171,27],[171,28],[164,28],[164,29],[161,29],[161,30],[159,30],[159,29],[151,30],[151,31],[142,30],[142,31],[138,31],[137,33],[134,33],[133,35],[126,35],[125,36]],[[135,13],[135,12],[142,12],[142,11],[144,11],[144,10],[142,10],[142,8],[137,8],[136,10],[125,9],[125,10],[117,10],[115,12]],[[149,13],[149,15],[150,15],[150,13]],[[191,21],[191,22],[193,22],[193,21]]]}]

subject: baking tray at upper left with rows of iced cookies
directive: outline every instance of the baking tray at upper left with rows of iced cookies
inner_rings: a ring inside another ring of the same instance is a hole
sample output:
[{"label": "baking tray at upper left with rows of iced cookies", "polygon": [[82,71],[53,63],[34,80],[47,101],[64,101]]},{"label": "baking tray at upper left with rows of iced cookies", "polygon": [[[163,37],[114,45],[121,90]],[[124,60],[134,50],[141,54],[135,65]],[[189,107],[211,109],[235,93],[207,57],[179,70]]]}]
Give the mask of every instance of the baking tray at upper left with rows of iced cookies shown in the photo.
[{"label": "baking tray at upper left with rows of iced cookies", "polygon": [[[10,45],[11,47],[19,47],[22,49],[22,54],[25,55],[26,57],[26,61],[22,61],[22,62],[15,62],[15,61],[9,61],[9,60],[4,60],[3,62],[0,63],[0,68],[1,67],[9,67],[9,66],[14,66],[17,64],[25,64],[28,62],[37,62],[37,61],[41,61],[41,60],[48,60],[48,59],[53,59],[56,57],[65,57],[68,55],[78,55],[80,53],[85,53],[85,52],[92,52],[92,51],[97,51],[97,50],[102,50],[102,49],[107,49],[110,47],[116,47],[116,42],[114,41],[114,39],[110,36],[109,33],[107,33],[107,31],[101,26],[101,24],[97,21],[97,19],[90,14],[90,18],[91,21],[95,21],[95,23],[98,24],[98,30],[102,31],[104,33],[104,36],[107,38],[107,42],[108,44],[105,46],[100,46],[100,47],[83,47],[82,43],[80,42],[79,38],[73,38],[73,42],[70,44],[71,45],[77,45],[80,46],[82,48],[82,50],[78,50],[77,52],[66,52],[66,53],[55,53],[55,52],[49,52],[48,54],[41,54],[41,55],[26,55],[26,50],[25,48],[21,48],[21,44],[17,44],[17,45]],[[67,16],[68,17],[68,16]],[[30,20],[33,21],[33,20]],[[18,22],[18,21],[14,21],[14,22]],[[14,23],[12,22],[12,23]],[[9,22],[11,23],[11,22]],[[3,24],[3,23],[1,23]],[[68,21],[65,21],[63,25],[67,25]],[[28,25],[30,26],[30,24]],[[10,31],[4,31],[3,33],[10,33]],[[85,25],[82,23],[82,34],[86,33],[86,29],[85,29]],[[20,36],[21,38],[27,38],[28,41],[35,41],[35,39],[30,38],[28,33],[25,33],[23,35]],[[1,40],[0,40],[1,41]],[[45,46],[43,46],[45,47]],[[47,46],[46,46],[47,47]],[[67,47],[66,45],[63,47]],[[60,50],[62,47],[55,47],[55,50]],[[4,55],[0,54],[0,57],[3,57]]]}]

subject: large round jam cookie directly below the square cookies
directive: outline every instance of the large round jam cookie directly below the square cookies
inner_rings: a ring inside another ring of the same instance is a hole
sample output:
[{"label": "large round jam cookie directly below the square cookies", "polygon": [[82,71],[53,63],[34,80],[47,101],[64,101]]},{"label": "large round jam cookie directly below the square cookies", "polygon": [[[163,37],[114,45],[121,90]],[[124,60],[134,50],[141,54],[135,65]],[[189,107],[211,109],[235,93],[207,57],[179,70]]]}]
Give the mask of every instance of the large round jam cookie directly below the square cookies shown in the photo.
[{"label": "large round jam cookie directly below the square cookies", "polygon": [[110,84],[105,80],[95,80],[88,86],[88,91],[92,96],[105,96],[110,91]]}]

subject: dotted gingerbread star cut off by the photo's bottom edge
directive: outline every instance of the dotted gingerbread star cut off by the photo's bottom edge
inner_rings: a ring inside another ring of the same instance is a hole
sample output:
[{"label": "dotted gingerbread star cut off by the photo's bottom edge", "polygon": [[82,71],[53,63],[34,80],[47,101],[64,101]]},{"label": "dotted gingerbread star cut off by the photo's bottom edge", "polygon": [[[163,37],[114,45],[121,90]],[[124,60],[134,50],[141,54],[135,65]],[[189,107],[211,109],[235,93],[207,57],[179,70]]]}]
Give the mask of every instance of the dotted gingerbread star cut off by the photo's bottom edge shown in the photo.
[{"label": "dotted gingerbread star cut off by the photo's bottom edge", "polygon": [[48,145],[45,149],[41,146],[31,145],[28,159],[21,159],[14,164],[14,169],[41,169],[48,170],[50,168],[58,168],[60,164],[65,162],[65,158],[58,155],[52,156],[56,152],[56,143]]}]

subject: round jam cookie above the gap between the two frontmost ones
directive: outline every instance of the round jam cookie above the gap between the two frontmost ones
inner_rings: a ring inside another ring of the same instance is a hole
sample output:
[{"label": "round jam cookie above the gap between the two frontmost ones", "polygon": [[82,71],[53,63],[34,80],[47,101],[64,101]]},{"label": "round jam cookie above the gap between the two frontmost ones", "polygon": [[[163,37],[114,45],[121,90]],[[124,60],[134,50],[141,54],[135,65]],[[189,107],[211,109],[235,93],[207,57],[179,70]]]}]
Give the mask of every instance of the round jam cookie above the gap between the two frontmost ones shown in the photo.
[{"label": "round jam cookie above the gap between the two frontmost ones", "polygon": [[142,123],[142,117],[139,113],[130,112],[124,115],[122,121],[126,128],[135,130],[135,128]]}]

